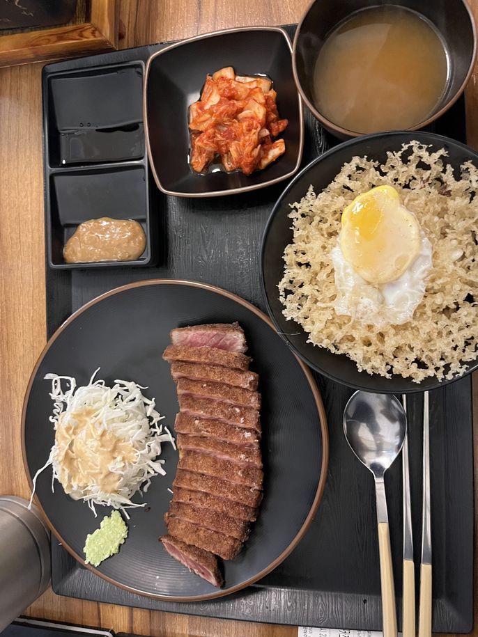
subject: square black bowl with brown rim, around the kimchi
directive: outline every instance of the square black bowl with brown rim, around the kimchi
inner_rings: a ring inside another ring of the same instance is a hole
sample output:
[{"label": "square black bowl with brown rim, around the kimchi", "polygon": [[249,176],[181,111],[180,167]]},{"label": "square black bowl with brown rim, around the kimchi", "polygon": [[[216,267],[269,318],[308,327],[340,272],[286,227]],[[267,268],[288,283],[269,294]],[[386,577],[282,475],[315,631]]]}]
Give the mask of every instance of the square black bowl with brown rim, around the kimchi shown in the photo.
[{"label": "square black bowl with brown rim, around the kimchi", "polygon": [[[188,108],[199,100],[207,74],[232,66],[237,74],[265,74],[277,92],[286,152],[262,171],[194,173],[189,164]],[[291,40],[284,29],[250,26],[206,33],[149,58],[144,82],[146,146],[157,187],[178,197],[210,197],[256,190],[291,177],[304,138],[302,103],[292,72]]]}]

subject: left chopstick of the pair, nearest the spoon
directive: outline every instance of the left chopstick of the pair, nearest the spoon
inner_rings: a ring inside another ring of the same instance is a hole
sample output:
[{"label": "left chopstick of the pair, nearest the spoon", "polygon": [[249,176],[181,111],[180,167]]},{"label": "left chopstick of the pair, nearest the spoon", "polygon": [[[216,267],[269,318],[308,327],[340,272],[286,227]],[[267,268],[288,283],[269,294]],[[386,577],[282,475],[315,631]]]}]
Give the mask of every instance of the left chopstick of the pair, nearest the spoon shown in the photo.
[{"label": "left chopstick of the pair, nearest the spoon", "polygon": [[[401,397],[403,410],[407,414],[407,398]],[[407,416],[408,429],[408,416]],[[403,472],[403,595],[402,634],[415,637],[415,564],[413,562],[412,505],[410,503],[410,468],[408,466],[408,433],[401,451]]]}]

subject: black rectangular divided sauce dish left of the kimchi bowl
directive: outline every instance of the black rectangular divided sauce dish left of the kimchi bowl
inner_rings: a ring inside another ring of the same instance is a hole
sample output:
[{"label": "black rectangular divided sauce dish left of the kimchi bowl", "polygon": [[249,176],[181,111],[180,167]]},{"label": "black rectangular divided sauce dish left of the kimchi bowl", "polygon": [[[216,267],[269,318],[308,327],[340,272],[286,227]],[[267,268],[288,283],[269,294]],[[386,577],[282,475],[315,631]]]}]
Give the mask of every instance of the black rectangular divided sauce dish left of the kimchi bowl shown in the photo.
[{"label": "black rectangular divided sauce dish left of the kimchi bowl", "polygon": [[[145,266],[157,260],[143,76],[141,61],[43,75],[45,234],[54,269]],[[134,261],[65,263],[63,246],[79,223],[99,217],[141,223],[144,253]]]}]

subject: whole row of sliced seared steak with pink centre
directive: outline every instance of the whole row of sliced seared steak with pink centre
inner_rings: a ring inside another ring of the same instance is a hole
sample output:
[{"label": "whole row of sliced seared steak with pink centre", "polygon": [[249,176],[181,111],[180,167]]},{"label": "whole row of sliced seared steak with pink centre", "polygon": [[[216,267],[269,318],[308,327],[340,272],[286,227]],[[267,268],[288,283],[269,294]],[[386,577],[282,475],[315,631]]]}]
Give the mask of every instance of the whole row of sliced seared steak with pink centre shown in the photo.
[{"label": "whole row of sliced seared steak with pink centre", "polygon": [[217,556],[232,560],[249,536],[262,499],[258,377],[238,323],[171,331],[171,363],[180,411],[179,463],[160,537],[176,560],[222,586]]}]

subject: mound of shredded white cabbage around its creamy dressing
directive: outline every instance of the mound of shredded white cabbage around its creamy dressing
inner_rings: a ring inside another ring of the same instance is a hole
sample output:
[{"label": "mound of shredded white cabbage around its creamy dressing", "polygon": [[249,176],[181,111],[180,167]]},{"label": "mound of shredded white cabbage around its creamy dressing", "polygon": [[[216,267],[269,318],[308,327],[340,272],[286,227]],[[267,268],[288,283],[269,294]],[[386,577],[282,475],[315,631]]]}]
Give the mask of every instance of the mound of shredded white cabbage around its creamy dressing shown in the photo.
[{"label": "mound of shredded white cabbage around its creamy dressing", "polygon": [[[98,437],[104,432],[109,432],[118,439],[130,443],[134,453],[130,453],[128,457],[116,457],[107,467],[109,472],[116,473],[118,476],[118,487],[113,493],[102,490],[94,480],[81,488],[72,482],[72,496],[85,501],[95,517],[95,505],[103,505],[121,509],[128,518],[125,508],[146,506],[146,503],[133,503],[130,498],[137,491],[145,493],[154,475],[166,473],[163,468],[164,459],[158,459],[161,454],[161,443],[169,442],[175,449],[176,445],[168,428],[158,425],[164,416],[160,416],[155,410],[154,398],[149,400],[141,393],[141,390],[146,387],[124,380],[115,380],[114,386],[108,387],[105,381],[94,380],[99,369],[95,371],[90,382],[82,387],[77,387],[75,378],[69,376],[56,374],[45,376],[45,380],[52,381],[50,397],[54,401],[53,416],[50,416],[49,420],[53,423],[55,432],[60,427],[68,427],[65,431],[68,431],[70,436],[72,435],[70,432],[73,432],[74,437],[77,425],[75,416],[86,409],[88,414],[91,414],[93,433],[98,434]],[[62,382],[67,382],[69,388],[63,390]],[[134,457],[131,457],[132,455]],[[54,491],[54,480],[61,482],[60,456],[55,436],[55,443],[47,462],[38,469],[33,478],[29,506],[33,501],[38,475],[47,466],[52,465],[52,491]],[[69,475],[69,478],[71,480],[72,475]]]}]

